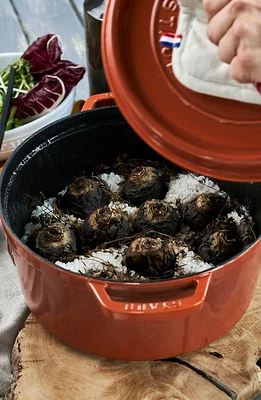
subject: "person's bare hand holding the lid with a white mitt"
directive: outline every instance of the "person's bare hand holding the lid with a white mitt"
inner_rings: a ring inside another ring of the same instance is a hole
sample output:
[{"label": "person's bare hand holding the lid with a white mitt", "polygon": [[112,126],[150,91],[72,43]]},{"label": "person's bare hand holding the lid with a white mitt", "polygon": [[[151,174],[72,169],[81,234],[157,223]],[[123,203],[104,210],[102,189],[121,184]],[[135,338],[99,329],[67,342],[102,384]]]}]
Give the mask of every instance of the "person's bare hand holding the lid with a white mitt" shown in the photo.
[{"label": "person's bare hand holding the lid with a white mitt", "polygon": [[240,83],[261,82],[261,1],[203,0],[207,35]]}]

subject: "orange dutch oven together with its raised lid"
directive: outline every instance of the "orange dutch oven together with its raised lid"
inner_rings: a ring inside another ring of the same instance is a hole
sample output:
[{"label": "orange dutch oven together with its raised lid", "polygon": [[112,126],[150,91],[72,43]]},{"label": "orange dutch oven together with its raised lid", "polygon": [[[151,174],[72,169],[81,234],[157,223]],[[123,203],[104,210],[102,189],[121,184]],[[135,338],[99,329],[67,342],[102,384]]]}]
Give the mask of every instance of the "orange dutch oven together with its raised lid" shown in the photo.
[{"label": "orange dutch oven together with its raised lid", "polygon": [[[1,218],[28,306],[57,338],[95,355],[153,360],[212,342],[245,313],[260,271],[261,184],[237,182],[261,178],[260,108],[198,95],[176,81],[159,39],[163,30],[175,32],[177,18],[175,0],[107,2],[104,65],[120,111],[111,94],[89,99],[84,108],[92,110],[31,136],[1,174]],[[63,270],[21,241],[30,217],[24,196],[55,196],[82,170],[122,153],[159,153],[217,178],[251,203],[257,240],[203,273],[139,283]]]}]

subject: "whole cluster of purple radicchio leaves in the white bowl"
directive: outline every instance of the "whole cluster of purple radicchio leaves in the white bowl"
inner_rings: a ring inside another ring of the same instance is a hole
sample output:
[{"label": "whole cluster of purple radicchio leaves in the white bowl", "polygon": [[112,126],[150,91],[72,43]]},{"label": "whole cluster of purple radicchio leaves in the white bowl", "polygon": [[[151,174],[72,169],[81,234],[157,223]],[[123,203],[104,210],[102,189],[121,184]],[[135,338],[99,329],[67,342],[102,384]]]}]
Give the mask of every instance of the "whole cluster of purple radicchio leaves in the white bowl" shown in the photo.
[{"label": "whole cluster of purple radicchio leaves in the white bowl", "polygon": [[47,34],[36,39],[21,58],[28,62],[30,74],[38,82],[26,94],[12,99],[15,119],[29,122],[56,108],[78,84],[85,68],[61,60],[62,45],[58,35]]}]

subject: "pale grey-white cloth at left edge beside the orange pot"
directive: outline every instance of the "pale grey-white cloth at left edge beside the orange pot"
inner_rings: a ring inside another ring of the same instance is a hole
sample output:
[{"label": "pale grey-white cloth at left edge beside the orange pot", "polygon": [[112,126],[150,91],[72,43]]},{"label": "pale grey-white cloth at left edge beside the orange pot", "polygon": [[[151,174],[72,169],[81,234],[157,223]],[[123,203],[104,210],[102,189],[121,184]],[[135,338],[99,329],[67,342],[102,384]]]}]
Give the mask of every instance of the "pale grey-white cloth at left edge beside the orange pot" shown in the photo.
[{"label": "pale grey-white cloth at left edge beside the orange pot", "polygon": [[12,382],[11,352],[28,313],[0,223],[0,398]]}]

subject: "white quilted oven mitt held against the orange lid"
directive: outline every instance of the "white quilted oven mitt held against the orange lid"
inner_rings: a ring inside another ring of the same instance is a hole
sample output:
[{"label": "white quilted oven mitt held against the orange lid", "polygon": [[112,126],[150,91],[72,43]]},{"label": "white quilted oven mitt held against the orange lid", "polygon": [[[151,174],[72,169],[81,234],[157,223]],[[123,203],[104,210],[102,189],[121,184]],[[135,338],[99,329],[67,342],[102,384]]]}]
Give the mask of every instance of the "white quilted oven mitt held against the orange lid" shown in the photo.
[{"label": "white quilted oven mitt held against the orange lid", "polygon": [[180,14],[177,34],[181,45],[173,49],[173,72],[184,86],[195,92],[245,103],[261,104],[252,84],[229,77],[228,64],[220,61],[218,49],[207,37],[207,18],[202,0],[178,0]]}]

